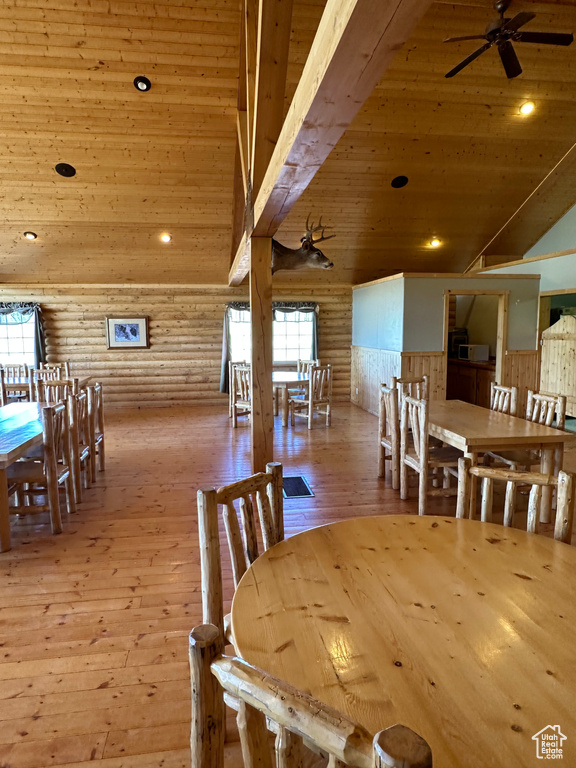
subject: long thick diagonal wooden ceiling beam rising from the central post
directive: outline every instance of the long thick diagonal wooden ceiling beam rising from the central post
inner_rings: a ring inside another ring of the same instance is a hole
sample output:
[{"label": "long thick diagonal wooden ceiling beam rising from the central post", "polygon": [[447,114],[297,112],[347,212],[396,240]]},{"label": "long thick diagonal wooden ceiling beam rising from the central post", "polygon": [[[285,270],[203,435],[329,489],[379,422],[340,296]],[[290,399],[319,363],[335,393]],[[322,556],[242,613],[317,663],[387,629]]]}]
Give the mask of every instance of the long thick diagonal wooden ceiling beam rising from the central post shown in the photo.
[{"label": "long thick diagonal wooden ceiling beam rising from the central post", "polygon": [[[328,0],[256,197],[256,236],[276,233],[431,3]],[[230,284],[248,269],[239,251]]]}]

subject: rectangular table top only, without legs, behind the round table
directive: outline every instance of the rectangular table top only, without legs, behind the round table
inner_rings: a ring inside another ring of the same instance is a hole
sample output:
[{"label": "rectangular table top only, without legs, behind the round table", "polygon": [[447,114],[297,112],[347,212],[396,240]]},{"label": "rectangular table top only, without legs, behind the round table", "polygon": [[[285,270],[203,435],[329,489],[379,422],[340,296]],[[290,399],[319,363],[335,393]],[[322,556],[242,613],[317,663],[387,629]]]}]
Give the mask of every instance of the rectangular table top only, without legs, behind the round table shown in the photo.
[{"label": "rectangular table top only, without legs, behind the round table", "polygon": [[481,408],[461,400],[431,400],[429,432],[466,453],[568,443],[572,432]]}]

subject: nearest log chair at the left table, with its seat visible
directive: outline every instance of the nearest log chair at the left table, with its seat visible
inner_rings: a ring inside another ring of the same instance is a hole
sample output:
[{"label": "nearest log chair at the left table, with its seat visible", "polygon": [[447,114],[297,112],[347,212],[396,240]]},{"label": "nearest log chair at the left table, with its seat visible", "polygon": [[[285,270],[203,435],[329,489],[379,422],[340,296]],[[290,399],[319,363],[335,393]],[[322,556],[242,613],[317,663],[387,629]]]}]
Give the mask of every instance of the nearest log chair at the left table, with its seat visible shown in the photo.
[{"label": "nearest log chair at the left table, with its seat visible", "polygon": [[[10,513],[30,515],[49,512],[52,533],[61,533],[60,485],[64,485],[66,491],[68,513],[76,511],[66,403],[42,408],[40,455],[14,462],[8,467],[7,476],[9,491],[18,500],[16,505],[10,507]],[[34,503],[38,496],[47,498],[48,503]]]}]

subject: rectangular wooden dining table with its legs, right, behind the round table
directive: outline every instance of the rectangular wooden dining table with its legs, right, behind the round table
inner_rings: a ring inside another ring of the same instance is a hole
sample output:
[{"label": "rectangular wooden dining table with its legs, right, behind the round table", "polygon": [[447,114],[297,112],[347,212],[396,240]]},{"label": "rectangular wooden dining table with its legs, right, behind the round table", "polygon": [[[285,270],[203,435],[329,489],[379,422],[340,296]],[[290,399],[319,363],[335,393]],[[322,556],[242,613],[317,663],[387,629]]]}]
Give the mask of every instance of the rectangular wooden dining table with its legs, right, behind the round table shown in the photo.
[{"label": "rectangular wooden dining table with its legs, right, behind the round table", "polygon": [[[540,471],[546,475],[552,474],[554,469],[562,469],[562,449],[576,439],[572,432],[535,424],[462,400],[431,400],[428,431],[432,437],[463,451],[473,465],[478,463],[479,454],[488,451],[539,450]],[[560,466],[555,468],[556,451]],[[476,477],[471,478],[471,517],[476,504],[477,481]],[[542,489],[540,520],[543,523],[550,522],[551,492],[552,488]]]}]

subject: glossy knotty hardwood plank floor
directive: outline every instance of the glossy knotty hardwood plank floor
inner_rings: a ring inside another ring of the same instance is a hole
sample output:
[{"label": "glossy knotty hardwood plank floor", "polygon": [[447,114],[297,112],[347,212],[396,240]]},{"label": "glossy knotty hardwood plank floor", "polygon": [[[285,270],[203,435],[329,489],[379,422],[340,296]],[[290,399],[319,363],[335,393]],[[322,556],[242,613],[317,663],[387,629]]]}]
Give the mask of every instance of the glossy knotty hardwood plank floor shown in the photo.
[{"label": "glossy knotty hardwood plank floor", "polygon": [[[402,502],[376,477],[376,436],[376,418],[350,404],[329,429],[276,419],[276,459],[316,494],[285,501],[287,535],[415,513],[415,488]],[[0,768],[189,765],[196,490],[250,474],[249,437],[223,407],[111,412],[106,472],[64,533],[52,536],[47,516],[12,521],[13,549],[0,555]],[[434,500],[432,511],[454,506]]]}]

